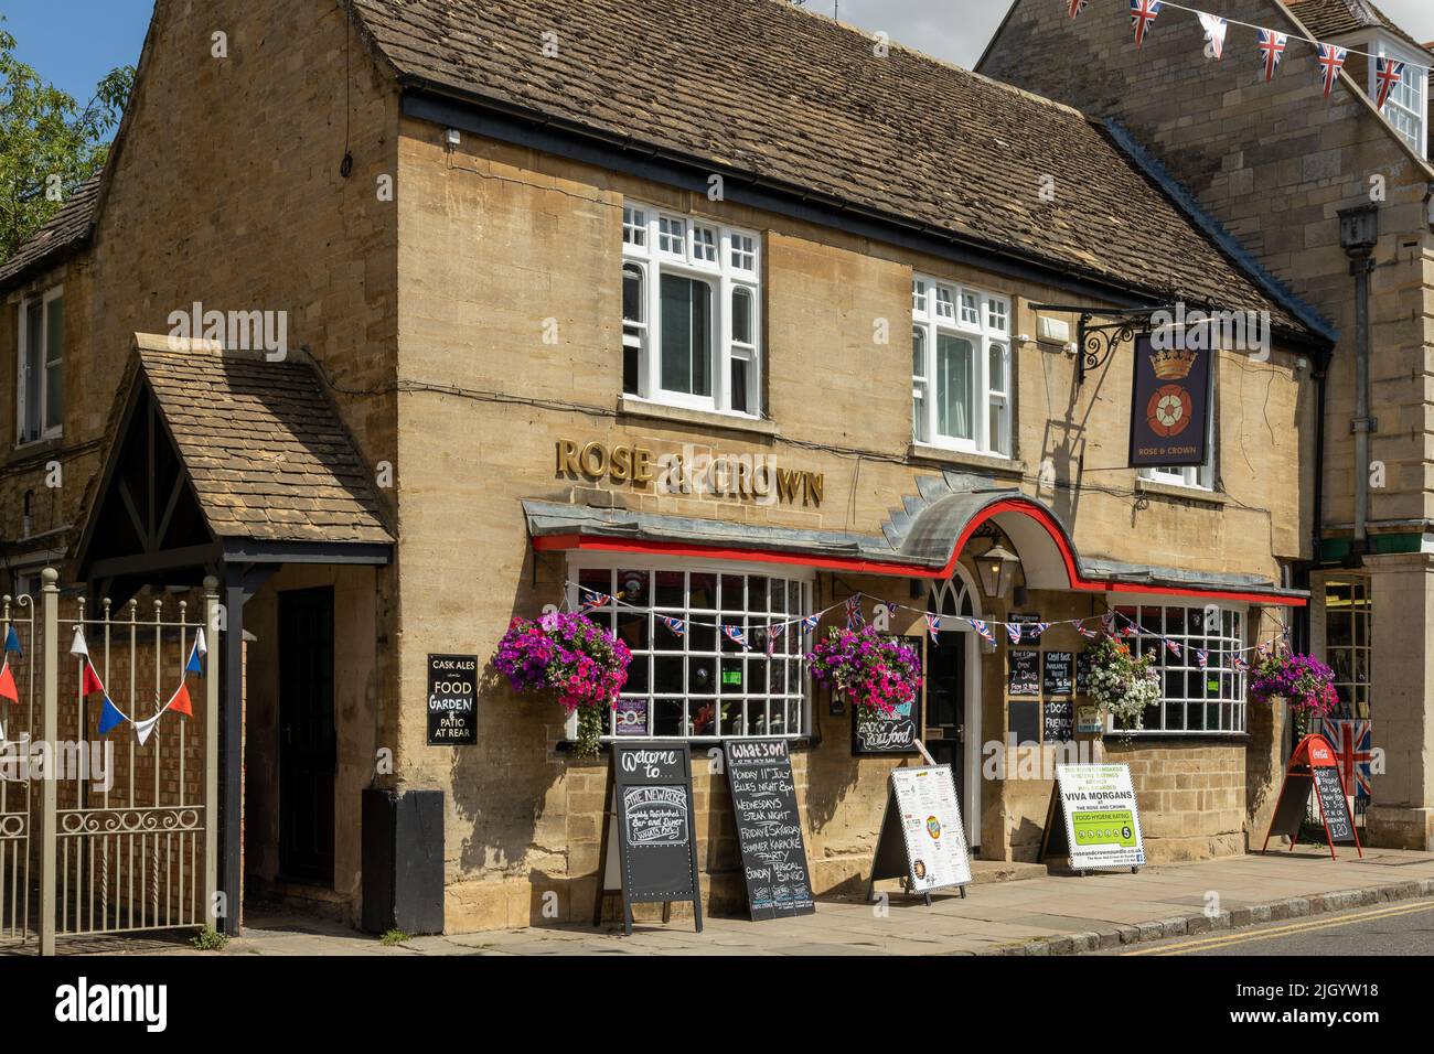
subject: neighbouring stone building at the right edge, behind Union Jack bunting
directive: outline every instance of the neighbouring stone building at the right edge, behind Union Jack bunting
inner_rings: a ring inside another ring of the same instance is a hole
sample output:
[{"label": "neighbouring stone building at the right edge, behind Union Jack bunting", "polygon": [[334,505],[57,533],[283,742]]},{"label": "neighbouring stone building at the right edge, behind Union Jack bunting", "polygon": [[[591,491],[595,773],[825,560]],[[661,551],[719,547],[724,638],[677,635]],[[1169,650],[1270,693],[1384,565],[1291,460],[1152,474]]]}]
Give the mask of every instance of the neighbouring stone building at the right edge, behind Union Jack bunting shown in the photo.
[{"label": "neighbouring stone building at the right edge, behind Union Jack bunting", "polygon": [[[1299,579],[1314,592],[1308,640],[1336,673],[1342,716],[1369,718],[1372,746],[1384,754],[1371,779],[1367,837],[1427,849],[1434,846],[1427,380],[1434,53],[1368,0],[1202,7],[1288,36],[1271,82],[1255,30],[1232,24],[1225,57],[1213,62],[1195,17],[1167,10],[1137,50],[1127,6],[1116,0],[1096,0],[1074,22],[1060,4],[1018,0],[978,70],[1119,122],[1259,267],[1338,327],[1315,462],[1322,465],[1318,554]],[[1348,49],[1328,99],[1308,42]],[[1382,112],[1375,56],[1404,63]],[[1348,209],[1358,206],[1372,206],[1377,224],[1372,254],[1361,257],[1372,261],[1367,351],[1341,239],[1341,214],[1352,219]]]}]

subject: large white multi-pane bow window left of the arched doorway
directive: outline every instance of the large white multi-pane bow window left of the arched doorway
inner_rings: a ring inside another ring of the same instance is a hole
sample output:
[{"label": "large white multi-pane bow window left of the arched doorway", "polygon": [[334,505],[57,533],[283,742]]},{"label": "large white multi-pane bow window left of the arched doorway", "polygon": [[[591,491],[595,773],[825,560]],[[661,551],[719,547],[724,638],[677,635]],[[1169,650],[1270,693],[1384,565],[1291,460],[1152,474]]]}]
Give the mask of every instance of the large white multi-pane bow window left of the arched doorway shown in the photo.
[{"label": "large white multi-pane bow window left of the arched doorway", "polygon": [[[810,576],[661,558],[599,564],[569,564],[568,599],[614,598],[588,618],[632,651],[608,736],[806,734],[809,638],[794,619],[812,614]],[[736,627],[747,647],[718,625]]]}]

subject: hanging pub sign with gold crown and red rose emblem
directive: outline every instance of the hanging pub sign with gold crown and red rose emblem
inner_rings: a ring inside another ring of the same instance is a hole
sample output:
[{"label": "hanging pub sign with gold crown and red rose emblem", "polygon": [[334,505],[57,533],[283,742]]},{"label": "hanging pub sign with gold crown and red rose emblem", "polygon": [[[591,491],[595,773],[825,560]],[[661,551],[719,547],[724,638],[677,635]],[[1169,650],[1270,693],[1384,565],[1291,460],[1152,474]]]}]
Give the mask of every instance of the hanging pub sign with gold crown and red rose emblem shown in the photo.
[{"label": "hanging pub sign with gold crown and red rose emblem", "polygon": [[1179,333],[1169,331],[1136,341],[1130,399],[1133,469],[1205,465],[1212,353],[1186,344]]}]

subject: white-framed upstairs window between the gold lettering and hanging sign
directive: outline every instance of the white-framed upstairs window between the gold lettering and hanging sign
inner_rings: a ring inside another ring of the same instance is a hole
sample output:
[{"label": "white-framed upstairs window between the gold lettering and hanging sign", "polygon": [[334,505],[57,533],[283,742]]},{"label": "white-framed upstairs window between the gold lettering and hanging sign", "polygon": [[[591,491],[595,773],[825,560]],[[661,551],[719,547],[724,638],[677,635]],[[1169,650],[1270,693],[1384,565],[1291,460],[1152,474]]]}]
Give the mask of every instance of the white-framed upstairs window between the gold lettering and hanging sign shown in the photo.
[{"label": "white-framed upstairs window between the gold lettering and hanging sign", "polygon": [[1011,455],[1011,301],[916,275],[911,294],[916,443]]}]

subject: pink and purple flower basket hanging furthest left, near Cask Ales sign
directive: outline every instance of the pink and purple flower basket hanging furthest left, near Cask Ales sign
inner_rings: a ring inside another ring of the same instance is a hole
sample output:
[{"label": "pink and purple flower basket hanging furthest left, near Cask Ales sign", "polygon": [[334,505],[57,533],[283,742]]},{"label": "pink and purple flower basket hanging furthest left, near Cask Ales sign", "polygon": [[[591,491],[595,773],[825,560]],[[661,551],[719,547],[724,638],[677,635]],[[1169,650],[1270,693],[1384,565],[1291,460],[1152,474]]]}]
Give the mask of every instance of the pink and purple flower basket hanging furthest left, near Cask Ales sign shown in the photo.
[{"label": "pink and purple flower basket hanging furthest left, near Cask Ales sign", "polygon": [[556,693],[569,714],[578,713],[574,754],[592,757],[631,661],[628,647],[602,627],[575,612],[552,611],[536,621],[509,622],[493,667],[515,691]]}]

